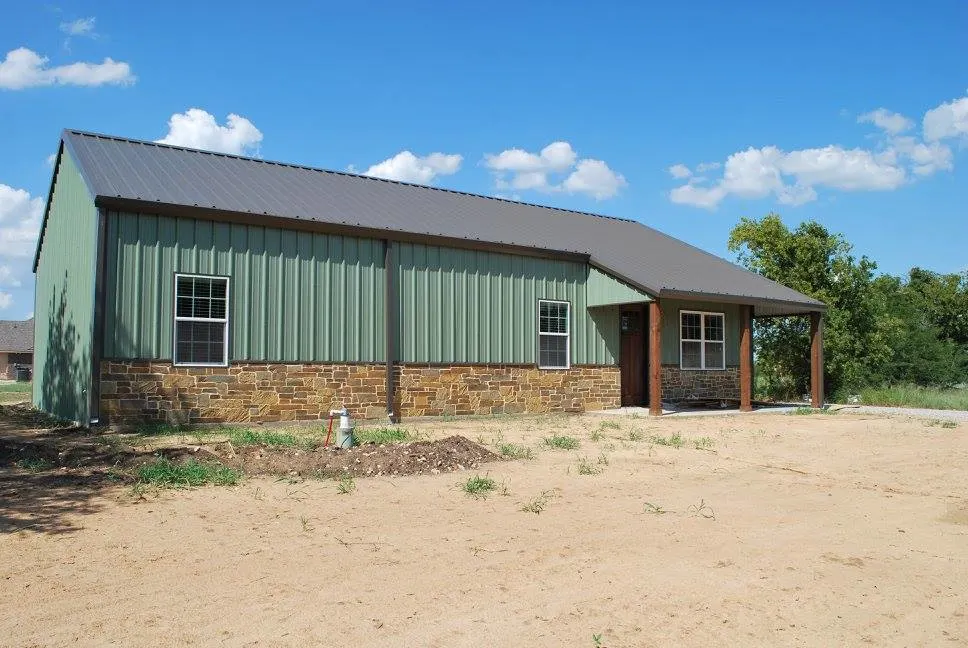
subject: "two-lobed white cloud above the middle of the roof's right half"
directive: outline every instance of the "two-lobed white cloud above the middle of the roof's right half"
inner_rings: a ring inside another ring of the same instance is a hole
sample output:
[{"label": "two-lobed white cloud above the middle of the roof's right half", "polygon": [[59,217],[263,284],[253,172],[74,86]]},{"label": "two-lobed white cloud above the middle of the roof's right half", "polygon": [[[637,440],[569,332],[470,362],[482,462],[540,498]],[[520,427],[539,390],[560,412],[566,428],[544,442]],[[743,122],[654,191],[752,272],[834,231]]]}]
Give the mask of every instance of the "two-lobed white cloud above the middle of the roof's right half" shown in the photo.
[{"label": "two-lobed white cloud above the middle of the roof's right half", "polygon": [[[564,191],[604,200],[628,184],[602,160],[579,160],[571,144],[561,141],[538,153],[511,148],[497,155],[485,154],[484,165],[494,172],[495,185],[501,190]],[[551,180],[552,175],[558,176],[557,182]]]}]

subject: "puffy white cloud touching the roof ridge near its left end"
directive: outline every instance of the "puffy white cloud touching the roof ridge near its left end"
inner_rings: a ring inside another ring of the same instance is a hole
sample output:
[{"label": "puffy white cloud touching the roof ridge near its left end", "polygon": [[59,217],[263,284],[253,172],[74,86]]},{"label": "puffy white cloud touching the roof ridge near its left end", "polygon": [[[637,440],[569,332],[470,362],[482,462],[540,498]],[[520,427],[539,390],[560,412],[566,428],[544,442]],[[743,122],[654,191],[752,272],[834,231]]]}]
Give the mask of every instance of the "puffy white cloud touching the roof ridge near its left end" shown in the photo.
[{"label": "puffy white cloud touching the roof ridge near its left end", "polygon": [[204,110],[189,108],[172,115],[168,120],[168,134],[155,141],[234,155],[258,152],[262,131],[255,124],[234,113],[229,114],[225,123],[220,126],[215,117]]}]

